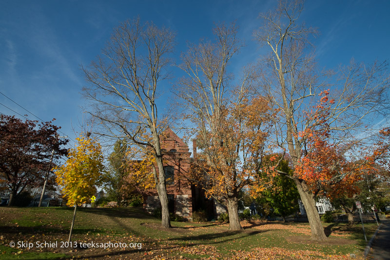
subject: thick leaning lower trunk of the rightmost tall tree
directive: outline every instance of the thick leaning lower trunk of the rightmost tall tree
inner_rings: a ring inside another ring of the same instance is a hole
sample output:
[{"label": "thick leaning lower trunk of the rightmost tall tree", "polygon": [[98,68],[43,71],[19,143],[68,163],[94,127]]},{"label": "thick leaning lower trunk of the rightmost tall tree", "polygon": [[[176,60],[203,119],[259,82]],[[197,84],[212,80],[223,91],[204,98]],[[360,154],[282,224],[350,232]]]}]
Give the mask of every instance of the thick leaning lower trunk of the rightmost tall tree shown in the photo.
[{"label": "thick leaning lower trunk of the rightmost tall tree", "polygon": [[315,241],[327,240],[328,238],[325,235],[324,227],[322,226],[320,216],[315,206],[314,195],[304,183],[301,183],[298,179],[295,179],[294,181],[296,187],[298,188],[298,192],[301,197],[302,203],[305,206],[306,214],[308,215],[310,229],[312,231],[312,240]]}]

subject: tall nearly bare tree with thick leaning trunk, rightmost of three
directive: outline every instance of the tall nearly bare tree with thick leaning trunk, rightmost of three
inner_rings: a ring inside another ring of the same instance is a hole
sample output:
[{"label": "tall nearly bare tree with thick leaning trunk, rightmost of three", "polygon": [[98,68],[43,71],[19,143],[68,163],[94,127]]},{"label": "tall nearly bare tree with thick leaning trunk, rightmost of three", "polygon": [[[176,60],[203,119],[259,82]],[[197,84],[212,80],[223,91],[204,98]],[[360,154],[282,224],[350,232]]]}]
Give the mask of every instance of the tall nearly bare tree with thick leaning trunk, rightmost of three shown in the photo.
[{"label": "tall nearly bare tree with thick leaning trunk, rightmost of three", "polygon": [[[281,111],[275,121],[275,140],[282,150],[291,155],[294,170],[301,165],[308,151],[309,130],[326,122],[332,131],[329,144],[361,143],[357,138],[359,131],[365,125],[369,127],[366,131],[372,129],[370,120],[373,116],[389,111],[386,63],[364,65],[352,61],[349,66],[340,67],[334,76],[318,73],[309,41],[316,32],[299,22],[302,10],[302,1],[280,1],[274,11],[260,15],[264,21],[263,27],[255,32],[259,43],[267,46],[271,52],[265,59],[264,64],[268,66],[263,69],[260,84],[271,106]],[[331,90],[326,96],[333,103],[328,107],[313,108],[316,97],[321,94],[321,98],[324,98],[324,91],[328,89]],[[312,109],[317,112],[307,116],[306,112]],[[347,153],[347,147],[344,153]],[[326,152],[326,149],[323,151]],[[337,161],[334,167],[337,167]],[[315,207],[316,195],[307,180],[298,176],[296,171],[292,179],[307,211],[312,238],[326,240]]]}]

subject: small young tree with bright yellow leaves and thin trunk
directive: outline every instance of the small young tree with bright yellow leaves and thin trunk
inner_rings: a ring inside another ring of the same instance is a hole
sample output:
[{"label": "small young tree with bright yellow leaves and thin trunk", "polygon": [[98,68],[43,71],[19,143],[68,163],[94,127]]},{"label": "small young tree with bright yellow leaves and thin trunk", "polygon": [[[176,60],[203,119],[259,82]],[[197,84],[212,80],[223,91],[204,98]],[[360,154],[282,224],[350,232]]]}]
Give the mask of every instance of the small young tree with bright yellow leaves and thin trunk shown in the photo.
[{"label": "small young tree with bright yellow leaves and thin trunk", "polygon": [[70,149],[66,163],[56,168],[56,181],[68,200],[67,205],[75,206],[68,242],[72,238],[77,205],[88,202],[94,196],[95,186],[101,183],[104,170],[98,140],[81,135],[76,140],[78,144],[75,149]]}]

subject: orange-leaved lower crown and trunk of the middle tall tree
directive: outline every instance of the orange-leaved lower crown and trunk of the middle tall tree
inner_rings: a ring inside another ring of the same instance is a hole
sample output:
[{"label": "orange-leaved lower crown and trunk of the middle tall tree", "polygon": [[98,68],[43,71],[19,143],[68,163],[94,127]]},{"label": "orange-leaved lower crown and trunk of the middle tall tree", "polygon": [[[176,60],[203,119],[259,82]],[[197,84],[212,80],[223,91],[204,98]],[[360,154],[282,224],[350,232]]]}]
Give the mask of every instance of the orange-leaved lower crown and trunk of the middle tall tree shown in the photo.
[{"label": "orange-leaved lower crown and trunk of the middle tall tree", "polygon": [[[238,100],[220,110],[218,131],[200,129],[196,143],[198,167],[193,180],[206,194],[226,202],[231,230],[242,229],[238,219],[241,190],[260,177],[261,162],[267,153],[266,140],[271,128],[270,108],[261,96]],[[200,167],[199,167],[200,166]]]}]

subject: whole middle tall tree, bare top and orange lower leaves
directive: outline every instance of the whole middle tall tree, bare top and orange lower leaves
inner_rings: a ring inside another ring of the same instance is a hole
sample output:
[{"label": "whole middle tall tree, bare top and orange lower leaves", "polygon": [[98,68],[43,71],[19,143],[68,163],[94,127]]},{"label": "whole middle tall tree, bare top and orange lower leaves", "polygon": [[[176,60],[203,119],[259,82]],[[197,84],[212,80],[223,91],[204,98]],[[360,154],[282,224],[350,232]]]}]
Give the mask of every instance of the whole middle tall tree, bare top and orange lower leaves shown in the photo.
[{"label": "whole middle tall tree, bare top and orange lower leaves", "polygon": [[253,95],[256,74],[252,68],[244,71],[238,86],[228,71],[241,46],[237,27],[221,24],[213,32],[214,41],[190,45],[182,55],[179,67],[186,77],[179,81],[177,93],[188,109],[191,134],[202,149],[200,162],[205,162],[197,168],[195,179],[209,196],[226,202],[230,229],[240,230],[239,192],[260,169],[270,111],[263,97]]}]

